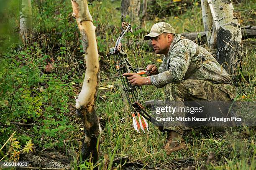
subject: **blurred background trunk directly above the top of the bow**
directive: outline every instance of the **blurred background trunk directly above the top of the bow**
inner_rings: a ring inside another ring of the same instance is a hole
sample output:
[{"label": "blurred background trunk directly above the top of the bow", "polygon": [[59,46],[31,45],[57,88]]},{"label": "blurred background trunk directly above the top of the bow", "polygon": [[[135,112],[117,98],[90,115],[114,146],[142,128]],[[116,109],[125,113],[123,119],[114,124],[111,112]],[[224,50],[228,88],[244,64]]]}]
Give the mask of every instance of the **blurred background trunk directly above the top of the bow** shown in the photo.
[{"label": "blurred background trunk directly above the top of the bow", "polygon": [[140,0],[122,0],[121,2],[121,21],[131,22],[133,25],[140,23]]}]

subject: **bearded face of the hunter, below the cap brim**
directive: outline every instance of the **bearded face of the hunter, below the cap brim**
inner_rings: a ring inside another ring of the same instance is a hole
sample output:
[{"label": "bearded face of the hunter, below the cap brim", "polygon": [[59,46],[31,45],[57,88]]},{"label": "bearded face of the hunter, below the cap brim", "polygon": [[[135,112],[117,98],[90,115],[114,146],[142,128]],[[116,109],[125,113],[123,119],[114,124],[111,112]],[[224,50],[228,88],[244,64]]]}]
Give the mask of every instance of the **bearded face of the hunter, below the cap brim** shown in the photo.
[{"label": "bearded face of the hunter, below the cap brim", "polygon": [[165,33],[163,33],[157,37],[152,37],[151,40],[151,44],[153,45],[156,54],[167,55],[169,47],[172,42],[171,35],[166,35]]}]

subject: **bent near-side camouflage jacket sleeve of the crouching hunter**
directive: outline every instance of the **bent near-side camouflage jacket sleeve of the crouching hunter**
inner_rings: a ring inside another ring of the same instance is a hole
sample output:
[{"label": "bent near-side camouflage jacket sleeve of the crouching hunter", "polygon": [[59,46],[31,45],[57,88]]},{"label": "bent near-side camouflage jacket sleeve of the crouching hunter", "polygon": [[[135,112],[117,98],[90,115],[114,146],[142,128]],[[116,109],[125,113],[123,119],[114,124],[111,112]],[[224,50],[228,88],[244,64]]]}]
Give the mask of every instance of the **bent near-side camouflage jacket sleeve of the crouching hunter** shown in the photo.
[{"label": "bent near-side camouflage jacket sleeve of the crouching hunter", "polygon": [[[174,47],[169,55],[169,69],[150,76],[151,83],[157,88],[161,88],[170,82],[180,82],[183,80],[191,61],[189,49],[185,44]],[[168,62],[166,64],[168,65]]]}]

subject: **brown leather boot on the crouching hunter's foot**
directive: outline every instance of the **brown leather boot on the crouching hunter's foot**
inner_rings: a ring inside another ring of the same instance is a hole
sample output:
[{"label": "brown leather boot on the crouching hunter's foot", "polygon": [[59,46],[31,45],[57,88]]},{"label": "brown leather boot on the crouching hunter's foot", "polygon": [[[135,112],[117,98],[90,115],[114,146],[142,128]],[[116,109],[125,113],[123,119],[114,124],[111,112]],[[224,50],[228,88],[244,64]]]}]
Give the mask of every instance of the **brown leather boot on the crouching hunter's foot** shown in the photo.
[{"label": "brown leather boot on the crouching hunter's foot", "polygon": [[170,155],[171,153],[178,150],[186,149],[186,144],[182,139],[182,135],[173,130],[168,130],[167,142],[163,146],[163,149],[167,155]]}]

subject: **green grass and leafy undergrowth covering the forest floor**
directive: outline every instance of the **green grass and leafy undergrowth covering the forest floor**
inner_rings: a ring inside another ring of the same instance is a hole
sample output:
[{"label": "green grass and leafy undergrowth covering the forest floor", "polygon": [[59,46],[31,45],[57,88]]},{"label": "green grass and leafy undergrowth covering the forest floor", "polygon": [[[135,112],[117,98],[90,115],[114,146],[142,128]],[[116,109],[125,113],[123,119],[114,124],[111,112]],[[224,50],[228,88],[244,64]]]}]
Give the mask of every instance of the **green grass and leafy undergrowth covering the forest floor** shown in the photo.
[{"label": "green grass and leafy undergrowth covering the forest floor", "polygon": [[[115,58],[106,54],[121,31],[120,2],[94,1],[89,6],[97,27],[102,79],[118,75]],[[241,26],[256,26],[253,0],[233,2]],[[180,33],[203,31],[200,0],[148,3],[146,25],[143,28],[132,25],[133,38],[140,43],[144,59],[129,59],[144,68],[151,63],[159,66],[163,57],[142,41],[154,23],[170,23]],[[137,133],[133,129],[118,79],[99,83],[95,109],[103,129],[100,159],[97,164],[81,163],[79,153],[84,133],[74,100],[82,87],[85,65],[71,2],[32,1],[35,33],[26,45],[19,40],[16,6],[16,2],[10,0],[6,9],[1,8],[1,14],[8,19],[3,20],[4,27],[1,26],[0,31],[8,28],[8,34],[1,34],[0,38],[0,161],[26,160],[28,154],[44,158],[47,154],[42,152],[47,151],[67,156],[67,160],[49,154],[47,158],[62,163],[70,161],[73,169],[103,169],[107,163],[109,169],[133,166],[137,169],[256,169],[255,126],[228,128],[224,133],[192,130],[184,136],[187,150],[169,156],[160,154],[166,135],[151,124],[147,133]],[[125,39],[125,42],[130,41]],[[129,47],[126,47],[128,55],[132,54]],[[235,83],[237,101],[256,101],[255,49],[255,39],[243,41],[241,80]],[[161,100],[164,90],[146,87],[143,97],[143,101]],[[207,161],[210,152],[215,156]]]}]

